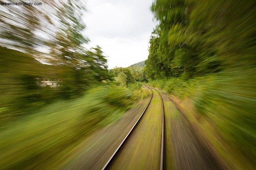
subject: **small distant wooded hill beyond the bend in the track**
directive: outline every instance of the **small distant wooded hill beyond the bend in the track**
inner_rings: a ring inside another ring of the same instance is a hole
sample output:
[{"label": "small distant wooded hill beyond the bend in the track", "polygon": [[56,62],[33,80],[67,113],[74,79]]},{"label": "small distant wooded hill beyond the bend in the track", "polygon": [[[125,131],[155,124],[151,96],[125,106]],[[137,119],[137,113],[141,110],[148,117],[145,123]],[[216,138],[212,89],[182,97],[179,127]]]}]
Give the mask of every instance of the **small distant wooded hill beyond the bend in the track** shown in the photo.
[{"label": "small distant wooded hill beyond the bend in the track", "polygon": [[146,75],[144,73],[145,61],[140,61],[127,67],[130,69],[136,81],[146,81]]}]

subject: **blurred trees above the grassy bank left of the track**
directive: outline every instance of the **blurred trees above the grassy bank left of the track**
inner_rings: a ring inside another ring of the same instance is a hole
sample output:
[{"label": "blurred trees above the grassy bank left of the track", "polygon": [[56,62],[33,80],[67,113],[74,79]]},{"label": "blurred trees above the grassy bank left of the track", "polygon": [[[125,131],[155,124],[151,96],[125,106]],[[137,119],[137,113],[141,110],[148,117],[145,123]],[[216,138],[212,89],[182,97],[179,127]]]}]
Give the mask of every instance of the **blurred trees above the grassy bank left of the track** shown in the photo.
[{"label": "blurred trees above the grassy bank left of the track", "polygon": [[89,42],[83,35],[84,2],[42,2],[39,7],[1,9],[1,120],[44,103],[79,97],[111,79],[102,49],[84,47]]}]

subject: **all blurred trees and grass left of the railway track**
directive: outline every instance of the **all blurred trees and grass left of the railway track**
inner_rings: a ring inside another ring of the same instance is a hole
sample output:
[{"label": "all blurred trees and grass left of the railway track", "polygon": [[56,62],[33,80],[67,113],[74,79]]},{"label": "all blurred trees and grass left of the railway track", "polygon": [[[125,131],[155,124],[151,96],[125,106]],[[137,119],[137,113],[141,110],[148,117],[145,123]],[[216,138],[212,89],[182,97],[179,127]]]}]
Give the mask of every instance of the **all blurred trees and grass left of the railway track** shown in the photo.
[{"label": "all blurred trees and grass left of the railway track", "polygon": [[148,95],[140,83],[127,88],[129,69],[113,83],[101,47],[85,47],[84,1],[45,4],[1,8],[1,169],[54,166]]}]

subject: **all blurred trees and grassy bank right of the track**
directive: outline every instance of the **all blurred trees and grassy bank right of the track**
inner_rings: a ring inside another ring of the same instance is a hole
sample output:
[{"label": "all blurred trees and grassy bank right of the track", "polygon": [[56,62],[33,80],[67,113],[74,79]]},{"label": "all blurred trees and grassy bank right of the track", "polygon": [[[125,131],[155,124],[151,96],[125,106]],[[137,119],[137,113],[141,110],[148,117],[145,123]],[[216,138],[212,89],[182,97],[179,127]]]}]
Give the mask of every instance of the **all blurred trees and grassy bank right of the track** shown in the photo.
[{"label": "all blurred trees and grassy bank right of the track", "polygon": [[145,61],[149,84],[191,105],[190,120],[235,169],[255,168],[256,160],[255,6],[155,0],[151,7],[159,24]]}]

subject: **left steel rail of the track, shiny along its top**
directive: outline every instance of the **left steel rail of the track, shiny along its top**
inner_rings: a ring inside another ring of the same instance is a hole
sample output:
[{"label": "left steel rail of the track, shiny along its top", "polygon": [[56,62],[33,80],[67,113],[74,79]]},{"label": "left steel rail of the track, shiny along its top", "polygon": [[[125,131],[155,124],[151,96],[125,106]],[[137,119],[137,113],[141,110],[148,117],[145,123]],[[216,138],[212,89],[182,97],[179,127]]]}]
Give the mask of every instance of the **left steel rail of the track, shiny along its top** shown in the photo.
[{"label": "left steel rail of the track, shiny along its top", "polygon": [[[148,87],[147,87],[148,88]],[[148,88],[150,89],[150,88]],[[151,90],[151,89],[150,89]],[[153,91],[151,90],[152,95],[150,98],[150,101],[148,102],[148,105],[150,104],[152,97],[153,97]],[[140,115],[139,119],[136,121],[136,123],[133,125],[133,127],[131,128],[131,130],[128,132],[128,134],[124,137],[124,140],[122,140],[122,142],[119,144],[118,148],[115,150],[115,152],[111,155],[111,157],[108,159],[108,161],[106,162],[106,164],[103,166],[102,170],[106,170],[111,162],[114,160],[115,156],[117,155],[118,151],[121,149],[121,147],[124,145],[124,143],[126,142],[126,140],[128,139],[128,137],[130,136],[130,134],[132,133],[132,131],[134,130],[134,128],[136,127],[136,125],[138,124],[138,122],[140,121],[142,115],[145,113],[146,109],[148,108],[148,105],[146,106],[146,108],[144,109],[144,111],[142,112],[142,114]]]}]

